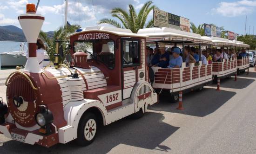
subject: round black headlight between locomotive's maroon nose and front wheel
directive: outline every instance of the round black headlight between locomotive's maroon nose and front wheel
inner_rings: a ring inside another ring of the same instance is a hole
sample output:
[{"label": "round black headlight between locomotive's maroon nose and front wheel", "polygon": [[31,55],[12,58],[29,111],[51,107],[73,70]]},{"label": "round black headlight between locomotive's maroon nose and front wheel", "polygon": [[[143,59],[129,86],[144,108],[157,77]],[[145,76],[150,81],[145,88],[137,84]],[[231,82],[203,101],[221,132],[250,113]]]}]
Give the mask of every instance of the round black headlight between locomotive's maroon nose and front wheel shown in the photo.
[{"label": "round black headlight between locomotive's maroon nose and front wheel", "polygon": [[54,121],[54,116],[49,109],[41,109],[41,111],[35,116],[36,122],[41,127],[46,126]]}]

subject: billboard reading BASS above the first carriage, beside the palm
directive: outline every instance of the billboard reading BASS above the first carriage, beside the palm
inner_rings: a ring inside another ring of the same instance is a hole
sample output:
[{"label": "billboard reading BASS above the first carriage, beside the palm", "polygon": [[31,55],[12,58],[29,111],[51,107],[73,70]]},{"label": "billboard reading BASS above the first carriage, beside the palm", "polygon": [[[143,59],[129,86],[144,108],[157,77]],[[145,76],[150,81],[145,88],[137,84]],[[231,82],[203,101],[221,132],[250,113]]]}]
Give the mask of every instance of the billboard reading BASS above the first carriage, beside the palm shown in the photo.
[{"label": "billboard reading BASS above the first carriage, beside the palm", "polygon": [[190,32],[189,19],[162,11],[158,8],[154,8],[153,10],[153,20],[155,27],[169,27],[177,30]]}]

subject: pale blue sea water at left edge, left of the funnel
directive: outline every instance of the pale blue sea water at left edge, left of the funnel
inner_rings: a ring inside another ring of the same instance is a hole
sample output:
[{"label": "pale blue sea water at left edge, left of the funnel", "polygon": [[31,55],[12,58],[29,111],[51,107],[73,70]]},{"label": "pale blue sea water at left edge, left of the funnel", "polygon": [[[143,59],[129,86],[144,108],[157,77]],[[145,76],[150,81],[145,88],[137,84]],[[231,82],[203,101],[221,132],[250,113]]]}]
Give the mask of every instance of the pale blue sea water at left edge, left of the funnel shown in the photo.
[{"label": "pale blue sea water at left edge, left of the funnel", "polygon": [[[25,42],[0,41],[0,53],[20,51],[20,45]],[[27,43],[25,43],[27,45]],[[24,48],[26,49],[26,48]],[[1,69],[1,67],[0,67]]]}]

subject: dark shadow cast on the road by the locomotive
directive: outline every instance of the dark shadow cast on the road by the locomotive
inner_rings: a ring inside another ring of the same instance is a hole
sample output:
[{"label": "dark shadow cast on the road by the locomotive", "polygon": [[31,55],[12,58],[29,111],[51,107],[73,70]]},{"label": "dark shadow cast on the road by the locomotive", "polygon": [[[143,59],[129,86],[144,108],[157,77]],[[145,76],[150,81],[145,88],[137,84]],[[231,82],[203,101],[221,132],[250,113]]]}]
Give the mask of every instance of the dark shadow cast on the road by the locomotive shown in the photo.
[{"label": "dark shadow cast on the road by the locomotive", "polygon": [[161,113],[147,112],[142,118],[132,120],[121,119],[108,126],[99,128],[95,141],[87,147],[79,147],[74,141],[67,144],[57,144],[51,148],[38,145],[28,145],[19,141],[7,141],[0,147],[1,154],[4,153],[89,153],[105,154],[119,144],[135,146],[139,148],[157,149],[168,151],[166,145],[160,145],[179,127],[171,126],[162,122],[164,116]]}]

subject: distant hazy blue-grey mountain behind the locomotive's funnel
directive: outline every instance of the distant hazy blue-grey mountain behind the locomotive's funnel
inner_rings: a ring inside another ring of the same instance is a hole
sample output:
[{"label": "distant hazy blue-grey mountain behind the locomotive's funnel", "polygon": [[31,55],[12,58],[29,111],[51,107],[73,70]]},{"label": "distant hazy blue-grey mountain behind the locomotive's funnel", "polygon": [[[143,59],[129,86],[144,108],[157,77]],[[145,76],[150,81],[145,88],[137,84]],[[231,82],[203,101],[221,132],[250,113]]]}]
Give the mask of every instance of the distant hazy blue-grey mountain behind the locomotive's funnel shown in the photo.
[{"label": "distant hazy blue-grey mountain behind the locomotive's funnel", "polygon": [[[49,38],[52,38],[53,35],[53,31],[47,32]],[[0,41],[26,42],[27,39],[25,38],[22,29],[13,25],[8,25],[0,26]]]}]

